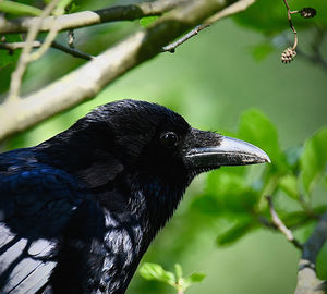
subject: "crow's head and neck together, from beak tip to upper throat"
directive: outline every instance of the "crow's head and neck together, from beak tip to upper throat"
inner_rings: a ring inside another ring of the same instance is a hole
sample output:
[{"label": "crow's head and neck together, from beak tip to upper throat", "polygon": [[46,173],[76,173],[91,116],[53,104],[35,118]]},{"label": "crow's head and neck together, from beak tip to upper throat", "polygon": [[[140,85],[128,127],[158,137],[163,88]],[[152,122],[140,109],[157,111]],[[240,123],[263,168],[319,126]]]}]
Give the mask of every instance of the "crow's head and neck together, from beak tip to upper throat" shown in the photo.
[{"label": "crow's head and neck together, from beak tip to upper throat", "polygon": [[[123,199],[129,199],[130,211],[157,222],[155,231],[171,217],[197,174],[270,161],[254,145],[193,128],[170,109],[136,100],[100,106],[39,148],[48,149],[51,164],[100,193],[110,209],[123,210]],[[111,192],[118,189],[114,197],[123,196],[113,206]]]}]

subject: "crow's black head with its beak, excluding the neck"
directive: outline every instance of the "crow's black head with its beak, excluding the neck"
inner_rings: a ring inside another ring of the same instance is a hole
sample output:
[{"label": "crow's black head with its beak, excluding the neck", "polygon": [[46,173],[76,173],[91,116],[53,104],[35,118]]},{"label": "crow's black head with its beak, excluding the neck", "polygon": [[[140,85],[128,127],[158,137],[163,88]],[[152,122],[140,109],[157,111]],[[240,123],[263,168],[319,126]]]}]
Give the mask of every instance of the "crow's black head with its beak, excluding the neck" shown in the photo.
[{"label": "crow's black head with its beak, excluding the neck", "polygon": [[222,166],[270,162],[258,147],[232,137],[193,128],[170,109],[145,101],[121,100],[82,119],[107,130],[110,149],[126,166],[172,182],[189,182]]}]

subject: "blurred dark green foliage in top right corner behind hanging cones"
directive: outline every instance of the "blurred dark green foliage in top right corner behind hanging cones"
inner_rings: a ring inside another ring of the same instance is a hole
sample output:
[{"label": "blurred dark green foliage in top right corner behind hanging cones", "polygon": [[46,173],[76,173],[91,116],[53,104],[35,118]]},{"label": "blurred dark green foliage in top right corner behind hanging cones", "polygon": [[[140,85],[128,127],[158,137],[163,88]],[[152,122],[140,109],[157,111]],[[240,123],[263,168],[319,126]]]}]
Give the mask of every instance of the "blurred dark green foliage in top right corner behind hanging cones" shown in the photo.
[{"label": "blurred dark green foliage in top right corner behind hanging cones", "polygon": [[[292,11],[300,11],[308,7],[317,11],[314,19],[304,19],[300,13],[293,13],[291,16],[292,23],[299,36],[301,36],[301,47],[305,42],[312,42],[308,47],[315,48],[318,42],[317,39],[319,37],[323,38],[324,32],[327,29],[327,2],[320,0],[296,0],[289,1],[289,5]],[[292,39],[293,33],[288,24],[287,9],[283,1],[257,0],[245,11],[232,17],[239,25],[258,30],[269,37],[268,40],[252,47],[251,52],[256,61],[265,59],[277,48],[280,50],[280,47],[286,49],[290,46],[289,41]],[[311,32],[310,35],[318,35],[319,37],[312,40],[308,34],[304,32],[308,29]],[[317,30],[319,30],[318,34]],[[302,38],[305,34],[307,34],[306,37]],[[276,36],[274,40],[272,36]]]}]

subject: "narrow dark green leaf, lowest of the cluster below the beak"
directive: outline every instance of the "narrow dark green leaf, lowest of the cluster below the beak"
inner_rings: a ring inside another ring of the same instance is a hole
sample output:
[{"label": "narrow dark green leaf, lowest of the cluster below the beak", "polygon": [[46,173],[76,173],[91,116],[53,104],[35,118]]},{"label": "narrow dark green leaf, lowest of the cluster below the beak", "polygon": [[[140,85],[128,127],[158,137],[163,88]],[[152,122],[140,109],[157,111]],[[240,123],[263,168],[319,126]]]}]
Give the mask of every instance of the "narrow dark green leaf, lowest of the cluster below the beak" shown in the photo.
[{"label": "narrow dark green leaf, lowest of the cluster below the beak", "polygon": [[249,233],[253,228],[254,223],[252,220],[239,221],[234,226],[219,235],[216,243],[219,246],[230,245]]}]

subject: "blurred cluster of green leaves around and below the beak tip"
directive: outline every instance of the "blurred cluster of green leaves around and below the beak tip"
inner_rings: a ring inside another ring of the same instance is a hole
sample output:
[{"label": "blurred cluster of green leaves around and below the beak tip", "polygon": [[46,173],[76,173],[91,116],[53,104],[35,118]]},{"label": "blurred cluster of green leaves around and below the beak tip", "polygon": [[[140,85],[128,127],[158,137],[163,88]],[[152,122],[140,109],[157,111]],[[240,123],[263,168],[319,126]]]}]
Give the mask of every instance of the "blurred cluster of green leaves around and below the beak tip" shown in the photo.
[{"label": "blurred cluster of green leaves around and below the beak tip", "polygon": [[[261,225],[269,223],[269,207],[265,196],[288,196],[303,210],[277,212],[290,228],[302,228],[315,221],[316,216],[326,211],[325,206],[312,207],[302,196],[300,180],[305,195],[311,194],[315,183],[324,179],[327,163],[327,127],[318,131],[304,143],[304,148],[294,147],[283,151],[278,133],[270,120],[259,110],[252,109],[241,115],[239,136],[263,148],[271,159],[258,174],[251,167],[223,169],[208,175],[207,187],[192,207],[215,218],[232,219],[230,229],[219,233],[219,246],[231,245]],[[299,171],[302,171],[301,173]],[[306,234],[312,230],[307,226]]]}]

